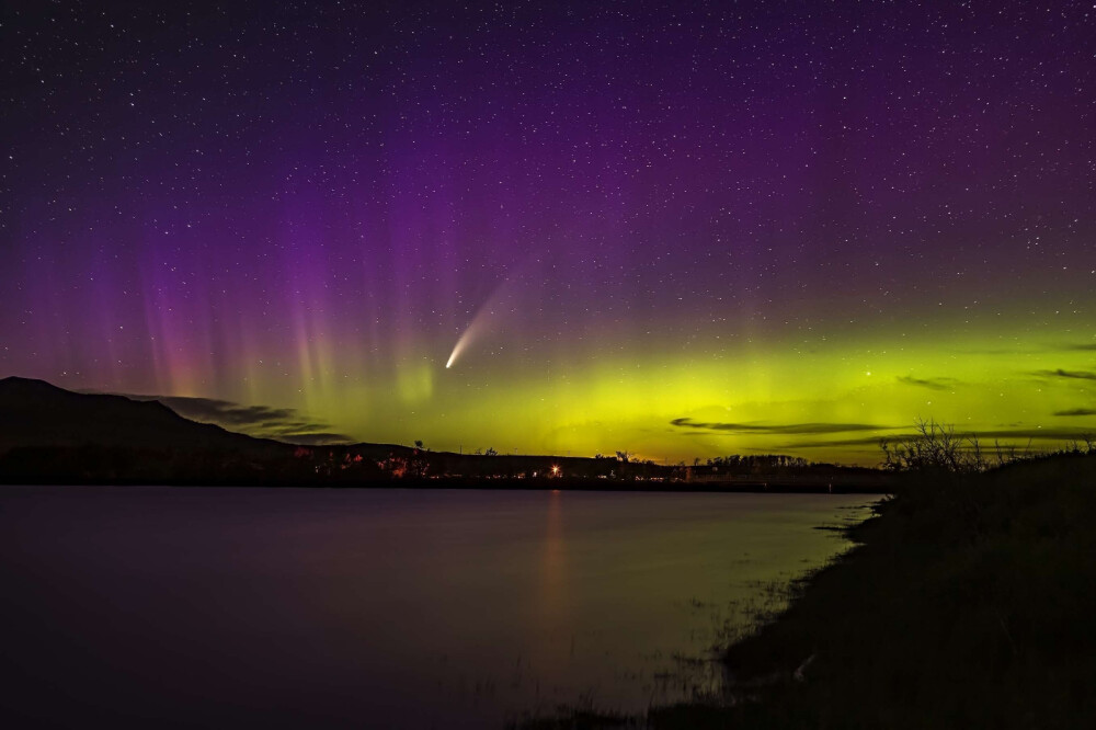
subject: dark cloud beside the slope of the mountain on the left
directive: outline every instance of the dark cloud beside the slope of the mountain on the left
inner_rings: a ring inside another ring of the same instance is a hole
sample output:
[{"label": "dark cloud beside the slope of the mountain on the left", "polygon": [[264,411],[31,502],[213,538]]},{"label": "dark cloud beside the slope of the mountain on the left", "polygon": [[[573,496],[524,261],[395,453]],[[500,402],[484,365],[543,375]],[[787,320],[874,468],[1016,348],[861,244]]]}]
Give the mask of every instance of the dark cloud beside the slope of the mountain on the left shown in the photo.
[{"label": "dark cloud beside the slope of the mountain on the left", "polygon": [[158,400],[184,419],[201,423],[216,423],[229,431],[239,431],[250,436],[275,438],[308,446],[354,442],[353,438],[344,434],[329,432],[330,426],[322,421],[302,418],[300,412],[294,408],[241,406],[230,400],[215,398],[119,395],[133,400]]}]

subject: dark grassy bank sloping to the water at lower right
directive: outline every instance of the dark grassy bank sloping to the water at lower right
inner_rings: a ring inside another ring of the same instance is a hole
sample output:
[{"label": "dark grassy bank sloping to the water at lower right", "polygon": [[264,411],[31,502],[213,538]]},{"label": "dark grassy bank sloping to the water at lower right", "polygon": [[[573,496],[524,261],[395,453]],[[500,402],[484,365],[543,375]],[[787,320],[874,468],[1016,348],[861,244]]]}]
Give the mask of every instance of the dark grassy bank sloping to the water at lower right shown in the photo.
[{"label": "dark grassy bank sloping to the water at lower right", "polygon": [[[911,477],[652,727],[1096,727],[1096,455]],[[728,703],[731,704],[728,707]]]}]

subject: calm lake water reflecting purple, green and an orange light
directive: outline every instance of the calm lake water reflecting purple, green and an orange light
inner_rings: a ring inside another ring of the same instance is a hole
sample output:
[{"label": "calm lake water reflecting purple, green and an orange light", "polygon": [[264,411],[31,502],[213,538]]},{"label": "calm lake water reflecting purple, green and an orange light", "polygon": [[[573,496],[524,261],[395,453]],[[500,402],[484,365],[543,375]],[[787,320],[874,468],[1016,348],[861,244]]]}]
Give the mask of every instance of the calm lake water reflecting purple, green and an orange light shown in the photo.
[{"label": "calm lake water reflecting purple, green and an orange light", "polygon": [[680,660],[870,501],[0,488],[0,703],[21,727],[641,711],[718,680]]}]

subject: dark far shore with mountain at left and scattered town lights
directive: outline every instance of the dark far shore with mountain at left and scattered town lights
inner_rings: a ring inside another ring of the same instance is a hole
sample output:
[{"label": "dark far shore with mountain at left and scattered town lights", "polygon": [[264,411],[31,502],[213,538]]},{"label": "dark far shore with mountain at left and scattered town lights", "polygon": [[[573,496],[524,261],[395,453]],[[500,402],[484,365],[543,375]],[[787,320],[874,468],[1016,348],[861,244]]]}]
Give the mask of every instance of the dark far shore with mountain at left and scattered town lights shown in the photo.
[{"label": "dark far shore with mountain at left and scattered town lights", "polygon": [[[489,452],[490,453],[490,452]],[[155,400],[79,393],[43,380],[0,379],[0,483],[366,484],[374,482],[544,489],[764,489],[872,491],[878,471],[764,457],[737,474],[653,461],[550,455],[432,452],[396,444],[299,446],[190,421]],[[774,459],[776,459],[774,461]],[[741,461],[741,464],[740,464]],[[800,459],[801,461],[801,459]],[[715,463],[712,463],[715,464]],[[776,469],[774,465],[783,465]],[[790,466],[795,468],[790,468]],[[777,474],[780,471],[781,474]],[[787,472],[787,474],[783,474]],[[556,481],[558,480],[558,481]]]}]

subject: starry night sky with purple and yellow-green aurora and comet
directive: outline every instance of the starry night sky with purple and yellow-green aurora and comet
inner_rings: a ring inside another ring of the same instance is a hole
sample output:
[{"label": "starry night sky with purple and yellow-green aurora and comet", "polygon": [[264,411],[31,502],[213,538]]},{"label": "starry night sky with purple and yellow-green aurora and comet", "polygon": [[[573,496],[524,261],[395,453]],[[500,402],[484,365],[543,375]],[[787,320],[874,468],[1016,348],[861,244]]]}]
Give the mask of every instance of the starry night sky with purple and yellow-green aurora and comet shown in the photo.
[{"label": "starry night sky with purple and yellow-green aurora and comet", "polygon": [[465,452],[1096,432],[1092,2],[0,12],[0,376]]}]

